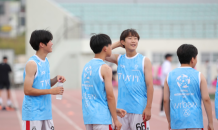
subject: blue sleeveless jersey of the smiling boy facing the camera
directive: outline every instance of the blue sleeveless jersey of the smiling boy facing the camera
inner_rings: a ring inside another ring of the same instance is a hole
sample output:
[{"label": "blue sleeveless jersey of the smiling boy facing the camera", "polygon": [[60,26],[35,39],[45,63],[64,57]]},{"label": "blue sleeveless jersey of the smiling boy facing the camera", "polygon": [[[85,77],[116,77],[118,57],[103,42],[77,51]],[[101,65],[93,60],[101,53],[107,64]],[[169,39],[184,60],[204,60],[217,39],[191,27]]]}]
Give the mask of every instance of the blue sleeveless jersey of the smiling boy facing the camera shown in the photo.
[{"label": "blue sleeveless jersey of the smiling boy facing the camera", "polygon": [[118,57],[117,108],[124,109],[127,113],[142,114],[147,105],[144,58],[139,53],[131,58],[126,54]]}]

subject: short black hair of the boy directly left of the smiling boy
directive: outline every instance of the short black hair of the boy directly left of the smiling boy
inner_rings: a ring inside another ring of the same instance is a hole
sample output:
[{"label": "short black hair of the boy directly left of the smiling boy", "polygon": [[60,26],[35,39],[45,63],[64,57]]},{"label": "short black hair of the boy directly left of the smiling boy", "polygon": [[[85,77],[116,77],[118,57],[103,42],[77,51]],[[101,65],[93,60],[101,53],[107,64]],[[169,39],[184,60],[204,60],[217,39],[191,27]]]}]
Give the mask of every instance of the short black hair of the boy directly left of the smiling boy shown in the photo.
[{"label": "short black hair of the boy directly left of the smiling boy", "polygon": [[94,34],[90,39],[90,47],[95,54],[102,51],[104,46],[108,46],[112,41],[106,34]]}]

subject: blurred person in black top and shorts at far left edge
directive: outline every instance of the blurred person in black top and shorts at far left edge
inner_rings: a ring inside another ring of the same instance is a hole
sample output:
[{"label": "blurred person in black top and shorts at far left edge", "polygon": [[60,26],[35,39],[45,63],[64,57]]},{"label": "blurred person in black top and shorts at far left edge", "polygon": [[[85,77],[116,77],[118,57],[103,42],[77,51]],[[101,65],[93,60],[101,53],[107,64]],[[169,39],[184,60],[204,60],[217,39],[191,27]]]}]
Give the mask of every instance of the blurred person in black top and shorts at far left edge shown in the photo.
[{"label": "blurred person in black top and shorts at far left edge", "polygon": [[9,73],[11,72],[11,67],[7,63],[8,59],[6,56],[3,57],[3,62],[0,63],[0,109],[3,109],[1,92],[2,89],[7,89],[8,101],[7,108],[11,108],[11,95],[10,95],[10,81],[9,81]]}]

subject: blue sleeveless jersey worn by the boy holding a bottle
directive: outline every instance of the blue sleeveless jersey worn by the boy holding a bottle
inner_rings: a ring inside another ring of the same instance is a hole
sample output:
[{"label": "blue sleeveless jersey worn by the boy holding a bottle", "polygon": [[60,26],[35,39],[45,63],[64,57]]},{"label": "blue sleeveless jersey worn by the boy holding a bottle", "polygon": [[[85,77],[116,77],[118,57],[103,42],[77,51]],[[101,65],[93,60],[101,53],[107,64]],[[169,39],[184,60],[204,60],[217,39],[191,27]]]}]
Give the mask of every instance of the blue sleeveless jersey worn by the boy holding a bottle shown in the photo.
[{"label": "blue sleeveless jersey worn by the boy holding a bottle", "polygon": [[[49,62],[39,59],[38,56],[32,56],[27,62],[34,61],[37,64],[37,72],[32,87],[35,89],[50,89],[50,70]],[[24,69],[23,79],[26,77]],[[51,95],[29,96],[24,95],[22,105],[22,120],[51,120]]]}]

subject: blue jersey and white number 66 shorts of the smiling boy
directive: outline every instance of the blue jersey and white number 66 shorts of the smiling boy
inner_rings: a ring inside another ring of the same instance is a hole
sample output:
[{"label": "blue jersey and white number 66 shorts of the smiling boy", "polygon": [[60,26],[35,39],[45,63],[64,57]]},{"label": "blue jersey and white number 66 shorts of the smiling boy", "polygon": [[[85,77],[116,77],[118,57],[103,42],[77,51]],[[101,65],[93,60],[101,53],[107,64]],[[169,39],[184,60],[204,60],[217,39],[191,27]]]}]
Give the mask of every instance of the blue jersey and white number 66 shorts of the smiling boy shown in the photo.
[{"label": "blue jersey and white number 66 shorts of the smiling boy", "polygon": [[149,130],[149,122],[143,122],[142,114],[147,105],[147,86],[144,75],[145,57],[137,53],[134,57],[126,54],[118,57],[118,101],[117,108],[126,110],[125,117],[118,120],[121,130]]}]

